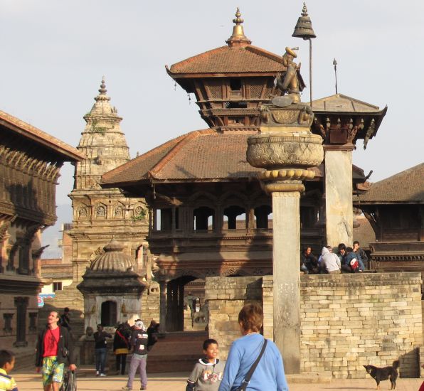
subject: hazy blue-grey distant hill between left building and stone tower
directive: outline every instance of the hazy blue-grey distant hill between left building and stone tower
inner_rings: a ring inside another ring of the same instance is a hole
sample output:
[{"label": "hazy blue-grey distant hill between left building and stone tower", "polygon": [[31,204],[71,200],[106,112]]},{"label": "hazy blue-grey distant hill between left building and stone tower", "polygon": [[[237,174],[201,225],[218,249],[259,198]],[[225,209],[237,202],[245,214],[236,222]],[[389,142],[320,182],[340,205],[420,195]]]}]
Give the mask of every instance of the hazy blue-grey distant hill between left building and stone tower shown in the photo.
[{"label": "hazy blue-grey distant hill between left building and stone tower", "polygon": [[42,259],[62,257],[62,249],[58,247],[58,241],[62,239],[62,224],[72,223],[72,206],[70,204],[57,205],[56,215],[58,215],[58,221],[41,235],[43,246],[50,245],[44,250]]}]

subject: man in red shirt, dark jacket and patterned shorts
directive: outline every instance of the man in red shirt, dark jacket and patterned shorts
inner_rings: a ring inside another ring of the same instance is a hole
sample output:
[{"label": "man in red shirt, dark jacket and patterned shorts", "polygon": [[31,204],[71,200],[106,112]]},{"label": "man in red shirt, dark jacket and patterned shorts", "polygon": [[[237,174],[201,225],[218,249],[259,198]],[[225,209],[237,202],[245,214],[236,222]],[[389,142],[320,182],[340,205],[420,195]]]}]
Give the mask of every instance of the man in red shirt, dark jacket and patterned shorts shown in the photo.
[{"label": "man in red shirt, dark jacket and patterned shorts", "polygon": [[38,334],[36,371],[43,375],[44,391],[58,391],[63,380],[65,364],[69,370],[77,367],[73,358],[73,341],[68,328],[58,325],[59,315],[51,311],[47,326]]}]

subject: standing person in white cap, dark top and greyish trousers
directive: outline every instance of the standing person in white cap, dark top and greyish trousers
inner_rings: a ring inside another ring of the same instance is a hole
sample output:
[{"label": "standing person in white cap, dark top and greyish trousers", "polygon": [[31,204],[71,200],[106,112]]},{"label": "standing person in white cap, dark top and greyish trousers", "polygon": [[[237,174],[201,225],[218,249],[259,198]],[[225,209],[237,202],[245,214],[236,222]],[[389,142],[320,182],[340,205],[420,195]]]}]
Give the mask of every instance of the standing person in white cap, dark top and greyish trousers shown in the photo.
[{"label": "standing person in white cap, dark top and greyish trousers", "polygon": [[131,340],[129,341],[132,347],[132,357],[131,363],[129,364],[128,381],[127,385],[122,387],[122,390],[132,390],[132,382],[137,373],[137,368],[140,368],[140,380],[142,382],[140,390],[147,390],[146,363],[148,341],[149,336],[144,329],[144,323],[140,319],[137,319],[134,323],[134,331],[132,331]]}]

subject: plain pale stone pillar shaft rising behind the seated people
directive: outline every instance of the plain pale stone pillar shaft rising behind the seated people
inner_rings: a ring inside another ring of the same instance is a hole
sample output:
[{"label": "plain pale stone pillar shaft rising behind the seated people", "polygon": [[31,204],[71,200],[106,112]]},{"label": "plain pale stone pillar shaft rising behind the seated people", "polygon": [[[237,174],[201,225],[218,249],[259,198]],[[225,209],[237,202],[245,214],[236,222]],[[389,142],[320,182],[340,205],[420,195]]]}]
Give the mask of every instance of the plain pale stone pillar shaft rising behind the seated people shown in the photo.
[{"label": "plain pale stone pillar shaft rising behind the seated people", "polygon": [[[343,149],[341,149],[343,148]],[[354,241],[352,145],[325,146],[325,209],[327,245]]]}]

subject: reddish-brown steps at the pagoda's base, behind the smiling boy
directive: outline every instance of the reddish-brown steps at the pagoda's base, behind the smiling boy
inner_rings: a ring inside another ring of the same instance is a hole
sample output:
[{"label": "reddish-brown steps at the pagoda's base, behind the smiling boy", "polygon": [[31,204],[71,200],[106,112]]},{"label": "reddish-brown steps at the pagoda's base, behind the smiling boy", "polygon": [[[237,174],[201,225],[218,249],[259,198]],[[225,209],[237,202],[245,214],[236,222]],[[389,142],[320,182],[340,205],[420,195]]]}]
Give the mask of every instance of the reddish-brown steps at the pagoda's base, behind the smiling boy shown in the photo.
[{"label": "reddish-brown steps at the pagoda's base, behind the smiling boy", "polygon": [[196,360],[203,356],[206,331],[166,333],[149,353],[147,373],[191,372]]}]

